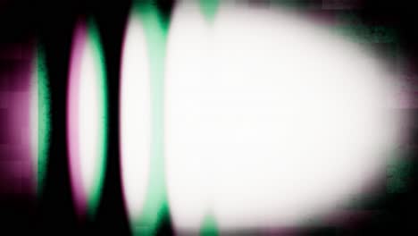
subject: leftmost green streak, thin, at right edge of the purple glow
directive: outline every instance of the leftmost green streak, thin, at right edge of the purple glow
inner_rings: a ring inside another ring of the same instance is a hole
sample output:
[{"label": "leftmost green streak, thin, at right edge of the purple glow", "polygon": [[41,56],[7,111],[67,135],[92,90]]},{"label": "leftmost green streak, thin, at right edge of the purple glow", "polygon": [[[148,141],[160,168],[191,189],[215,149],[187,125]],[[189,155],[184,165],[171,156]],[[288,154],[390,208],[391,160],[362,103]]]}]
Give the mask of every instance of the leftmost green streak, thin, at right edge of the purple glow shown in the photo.
[{"label": "leftmost green streak, thin, at right edge of the purple glow", "polygon": [[49,147],[49,135],[51,131],[50,120],[50,95],[46,72],[46,60],[44,48],[37,46],[36,80],[38,88],[38,182],[37,194],[40,196],[44,188],[46,178],[46,166]]}]

